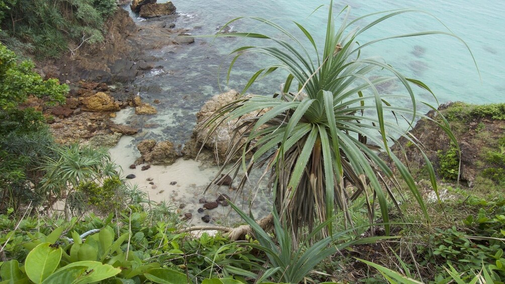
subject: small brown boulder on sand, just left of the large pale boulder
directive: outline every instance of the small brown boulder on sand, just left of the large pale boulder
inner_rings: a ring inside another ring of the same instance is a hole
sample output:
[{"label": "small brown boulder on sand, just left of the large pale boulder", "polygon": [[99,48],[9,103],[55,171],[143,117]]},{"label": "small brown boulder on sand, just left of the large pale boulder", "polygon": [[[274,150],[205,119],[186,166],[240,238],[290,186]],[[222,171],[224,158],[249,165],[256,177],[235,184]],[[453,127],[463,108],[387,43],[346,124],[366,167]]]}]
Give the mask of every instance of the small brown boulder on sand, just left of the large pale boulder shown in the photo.
[{"label": "small brown boulder on sand, just left of the large pale boulder", "polygon": [[137,149],[142,156],[135,161],[136,164],[147,162],[155,165],[171,165],[179,158],[170,141],[157,143],[153,139],[143,140],[137,145]]}]

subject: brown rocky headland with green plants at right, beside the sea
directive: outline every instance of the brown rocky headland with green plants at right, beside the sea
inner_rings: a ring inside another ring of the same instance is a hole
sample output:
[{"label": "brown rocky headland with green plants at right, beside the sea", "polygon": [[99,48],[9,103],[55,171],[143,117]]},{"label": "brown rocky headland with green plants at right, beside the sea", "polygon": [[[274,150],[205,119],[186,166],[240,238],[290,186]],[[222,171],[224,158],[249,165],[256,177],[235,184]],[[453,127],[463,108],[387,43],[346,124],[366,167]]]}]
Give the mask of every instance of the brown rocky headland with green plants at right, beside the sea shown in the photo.
[{"label": "brown rocky headland with green plants at right, beside the sea", "polygon": [[[485,109],[487,106],[479,107]],[[505,109],[505,104],[502,107]],[[503,137],[503,129],[505,129],[505,120],[493,119],[486,115],[485,111],[472,113],[472,109],[475,108],[475,105],[462,102],[449,102],[438,108],[440,113],[447,118],[461,150],[460,180],[470,187],[475,185],[477,178],[482,180],[484,169],[493,167],[493,164],[486,160],[486,153],[493,148],[498,150],[497,141]],[[427,116],[441,122],[440,115],[433,110],[428,112]],[[445,131],[433,121],[423,118],[410,132],[419,140],[426,155],[432,161],[435,172],[438,173],[440,155],[454,147]],[[410,167],[423,169],[425,166],[420,151],[405,137],[398,139],[397,145],[392,149],[402,160],[407,158]],[[457,171],[458,168],[455,169]],[[482,182],[482,184],[485,183]]]}]

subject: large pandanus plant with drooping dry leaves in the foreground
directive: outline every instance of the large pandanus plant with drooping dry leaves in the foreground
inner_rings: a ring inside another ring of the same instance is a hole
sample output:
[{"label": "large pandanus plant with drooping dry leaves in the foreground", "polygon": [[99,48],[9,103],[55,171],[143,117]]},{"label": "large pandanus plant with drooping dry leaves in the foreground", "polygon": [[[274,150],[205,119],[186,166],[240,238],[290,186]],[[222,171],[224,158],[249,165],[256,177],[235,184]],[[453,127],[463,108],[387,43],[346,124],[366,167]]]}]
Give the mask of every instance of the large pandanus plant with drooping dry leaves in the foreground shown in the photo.
[{"label": "large pandanus plant with drooping dry leaves in the foreground", "polygon": [[[269,180],[276,210],[281,220],[290,224],[293,237],[297,236],[299,228],[313,228],[316,220],[330,218],[335,208],[342,210],[346,224],[351,224],[348,203],[361,194],[366,196],[371,221],[376,202],[383,221],[387,223],[387,196],[398,207],[390,187],[399,185],[389,164],[394,164],[428,218],[421,194],[408,168],[390,150],[390,144],[398,137],[405,136],[422,152],[422,145],[408,133],[408,129],[399,125],[398,119],[412,127],[415,119],[422,116],[416,112],[418,103],[413,86],[430,93],[431,90],[421,81],[406,78],[381,58],[362,58],[361,51],[375,42],[391,38],[444,34],[460,39],[450,31],[427,31],[359,44],[360,35],[381,22],[404,13],[422,12],[395,10],[349,21],[350,9],[346,7],[341,13],[342,24],[337,27],[332,6],[333,2],[330,1],[326,38],[322,46],[296,22],[294,24],[304,35],[304,41],[273,21],[259,17],[251,18],[280,32],[282,39],[259,33],[227,34],[257,38],[273,44],[243,46],[232,51],[234,58],[228,69],[228,78],[236,60],[246,52],[264,54],[277,62],[256,72],[242,94],[257,79],[277,69],[283,69],[289,75],[280,93],[273,97],[241,97],[222,107],[207,123],[216,131],[220,124],[238,119],[236,135],[241,136],[242,140],[232,139],[239,142],[230,145],[225,165],[234,164],[235,175],[240,167],[247,175],[252,168],[267,165],[265,173],[268,174],[265,177]],[[375,17],[378,18],[364,27],[357,26],[359,21]],[[403,92],[379,91],[379,84],[390,81],[399,82]],[[292,82],[298,85],[296,92],[290,92]],[[412,107],[395,105],[406,98]],[[245,117],[249,113],[257,115]],[[389,113],[390,119],[386,113]],[[435,123],[454,140],[446,123]],[[237,153],[241,154],[242,159],[234,161],[232,157]],[[387,159],[391,163],[387,163]],[[433,168],[426,155],[425,159],[436,191]],[[240,187],[246,182],[247,179],[242,179]],[[386,232],[389,232],[387,225]]]}]

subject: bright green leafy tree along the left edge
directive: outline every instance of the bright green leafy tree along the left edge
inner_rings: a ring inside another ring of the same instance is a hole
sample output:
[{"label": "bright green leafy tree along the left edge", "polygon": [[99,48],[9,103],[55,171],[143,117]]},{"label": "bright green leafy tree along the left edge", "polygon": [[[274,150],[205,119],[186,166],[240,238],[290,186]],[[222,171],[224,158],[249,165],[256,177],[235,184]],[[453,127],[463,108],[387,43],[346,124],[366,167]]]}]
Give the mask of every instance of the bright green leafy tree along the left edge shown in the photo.
[{"label": "bright green leafy tree along the left edge", "polygon": [[40,111],[21,108],[30,95],[48,104],[63,102],[67,85],[42,78],[33,71],[33,63],[20,61],[16,54],[0,44],[0,210],[17,209],[23,202],[38,202],[31,186],[40,181],[39,167],[44,156],[52,156],[54,145]]}]

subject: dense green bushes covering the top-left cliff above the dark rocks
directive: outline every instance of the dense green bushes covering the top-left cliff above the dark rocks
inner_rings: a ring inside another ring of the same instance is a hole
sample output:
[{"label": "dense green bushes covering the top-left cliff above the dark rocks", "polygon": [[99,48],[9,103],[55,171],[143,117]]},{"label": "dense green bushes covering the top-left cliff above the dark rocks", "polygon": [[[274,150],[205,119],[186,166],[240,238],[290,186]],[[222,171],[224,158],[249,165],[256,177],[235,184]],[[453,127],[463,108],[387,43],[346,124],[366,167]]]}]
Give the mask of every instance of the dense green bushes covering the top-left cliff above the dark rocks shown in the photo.
[{"label": "dense green bushes covering the top-left cliff above the dark rocks", "polygon": [[0,41],[17,52],[57,58],[83,42],[103,41],[115,0],[1,0]]}]

